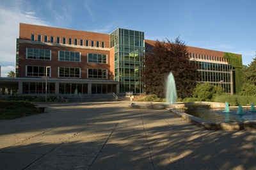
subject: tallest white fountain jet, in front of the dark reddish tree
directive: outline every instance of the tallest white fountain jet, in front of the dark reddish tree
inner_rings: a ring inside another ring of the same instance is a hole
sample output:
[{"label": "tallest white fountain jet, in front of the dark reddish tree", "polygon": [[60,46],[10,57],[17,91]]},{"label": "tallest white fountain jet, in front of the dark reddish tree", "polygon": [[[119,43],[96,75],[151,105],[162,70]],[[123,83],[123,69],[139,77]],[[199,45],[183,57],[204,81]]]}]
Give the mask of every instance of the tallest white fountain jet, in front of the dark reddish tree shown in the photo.
[{"label": "tallest white fountain jet, in front of the dark reddish tree", "polygon": [[175,80],[174,80],[172,72],[170,72],[168,75],[168,79],[166,82],[165,96],[166,96],[166,102],[169,104],[174,104],[177,100],[176,85],[175,85]]}]

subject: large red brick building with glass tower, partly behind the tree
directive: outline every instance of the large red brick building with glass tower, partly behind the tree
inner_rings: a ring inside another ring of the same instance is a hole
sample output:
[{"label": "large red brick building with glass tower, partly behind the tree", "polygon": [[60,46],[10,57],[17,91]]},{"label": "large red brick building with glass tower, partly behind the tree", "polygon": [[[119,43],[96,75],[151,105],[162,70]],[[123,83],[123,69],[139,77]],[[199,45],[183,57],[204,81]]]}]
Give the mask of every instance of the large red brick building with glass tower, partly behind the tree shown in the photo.
[{"label": "large red brick building with glass tower, partly behind the tree", "polygon": [[[16,77],[1,77],[1,87],[9,84],[19,94],[44,94],[47,79],[47,93],[52,95],[143,92],[145,47],[155,42],[145,40],[141,31],[118,28],[108,35],[21,23],[19,31]],[[236,69],[223,58],[225,52],[188,50],[200,81],[220,84],[227,93],[236,91]]]}]

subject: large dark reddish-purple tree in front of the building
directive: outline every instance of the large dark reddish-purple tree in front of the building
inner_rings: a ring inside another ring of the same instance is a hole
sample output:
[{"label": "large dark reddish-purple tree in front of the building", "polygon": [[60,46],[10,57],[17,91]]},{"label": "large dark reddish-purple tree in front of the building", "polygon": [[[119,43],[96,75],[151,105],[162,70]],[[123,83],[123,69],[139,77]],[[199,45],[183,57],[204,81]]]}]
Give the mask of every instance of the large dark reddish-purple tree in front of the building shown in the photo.
[{"label": "large dark reddish-purple tree in front of the building", "polygon": [[180,98],[189,97],[198,81],[199,73],[194,61],[189,61],[188,49],[178,38],[174,42],[157,41],[153,46],[147,46],[142,72],[145,92],[164,97],[165,81],[168,73],[175,77],[177,95]]}]

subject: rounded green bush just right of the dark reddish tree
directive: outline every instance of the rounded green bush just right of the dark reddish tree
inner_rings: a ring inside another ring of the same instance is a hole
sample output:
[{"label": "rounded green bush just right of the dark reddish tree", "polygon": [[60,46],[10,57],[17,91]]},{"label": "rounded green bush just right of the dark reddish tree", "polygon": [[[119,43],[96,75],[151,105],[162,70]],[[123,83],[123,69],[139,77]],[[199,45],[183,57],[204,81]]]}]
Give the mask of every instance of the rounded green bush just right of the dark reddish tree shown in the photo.
[{"label": "rounded green bush just right of the dark reddish tree", "polygon": [[221,95],[223,89],[218,86],[209,84],[209,82],[197,84],[193,92],[194,98],[200,98],[200,101],[211,101],[211,99],[217,95]]}]

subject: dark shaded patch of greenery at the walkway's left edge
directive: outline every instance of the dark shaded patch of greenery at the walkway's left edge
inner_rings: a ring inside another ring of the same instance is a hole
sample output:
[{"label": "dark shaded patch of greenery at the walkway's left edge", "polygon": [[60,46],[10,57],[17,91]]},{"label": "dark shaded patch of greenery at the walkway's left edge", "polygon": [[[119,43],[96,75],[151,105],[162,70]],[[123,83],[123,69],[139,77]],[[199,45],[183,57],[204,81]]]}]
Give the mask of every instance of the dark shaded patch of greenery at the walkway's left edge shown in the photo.
[{"label": "dark shaded patch of greenery at the walkway's left edge", "polygon": [[0,120],[11,120],[38,113],[35,105],[29,102],[0,100]]}]

